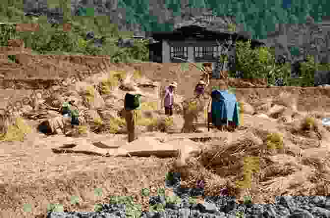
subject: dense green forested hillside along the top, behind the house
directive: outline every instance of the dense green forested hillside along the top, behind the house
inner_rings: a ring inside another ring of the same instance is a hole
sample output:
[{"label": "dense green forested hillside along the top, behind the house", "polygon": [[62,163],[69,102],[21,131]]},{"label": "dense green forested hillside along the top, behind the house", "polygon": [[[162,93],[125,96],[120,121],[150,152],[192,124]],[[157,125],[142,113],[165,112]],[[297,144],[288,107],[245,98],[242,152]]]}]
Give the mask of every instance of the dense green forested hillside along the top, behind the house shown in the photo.
[{"label": "dense green forested hillside along the top, behind the house", "polygon": [[[43,1],[36,5],[35,0],[27,0],[24,4],[23,0],[6,0],[0,5],[1,20],[22,20],[23,9],[32,9],[26,2],[39,8],[45,8],[47,4],[48,7],[64,8],[64,21],[75,19],[77,16],[72,15],[78,7],[87,7],[87,15],[110,14],[113,23],[118,21],[119,29],[127,26],[127,29],[133,30],[138,26],[142,31],[171,30],[175,17],[182,16],[187,9],[196,8],[193,11],[198,13],[200,8],[212,8],[214,15],[235,16],[236,23],[243,24],[245,30],[256,39],[265,38],[268,31],[274,30],[275,24],[304,23],[308,14],[315,22],[322,22],[323,16],[330,15],[330,1],[326,0],[91,0],[89,3],[93,8],[87,6],[87,0],[48,0],[46,5]],[[119,20],[114,11],[123,12]]]}]

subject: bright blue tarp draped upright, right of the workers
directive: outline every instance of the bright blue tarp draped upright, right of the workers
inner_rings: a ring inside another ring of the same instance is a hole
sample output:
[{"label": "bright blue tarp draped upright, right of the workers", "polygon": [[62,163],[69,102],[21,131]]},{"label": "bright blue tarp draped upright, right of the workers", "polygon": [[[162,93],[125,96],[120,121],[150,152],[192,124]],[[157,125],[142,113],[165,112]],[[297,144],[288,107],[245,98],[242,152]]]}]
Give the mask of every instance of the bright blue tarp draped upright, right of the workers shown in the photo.
[{"label": "bright blue tarp draped upright, right of the workers", "polygon": [[233,121],[239,125],[239,105],[236,102],[236,95],[228,91],[214,90],[211,94],[211,114],[214,125],[227,125]]}]

